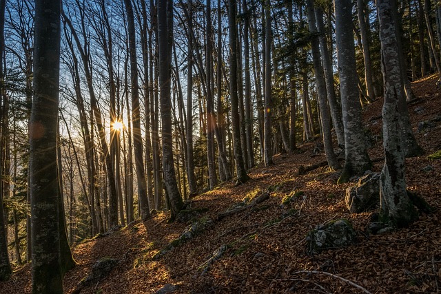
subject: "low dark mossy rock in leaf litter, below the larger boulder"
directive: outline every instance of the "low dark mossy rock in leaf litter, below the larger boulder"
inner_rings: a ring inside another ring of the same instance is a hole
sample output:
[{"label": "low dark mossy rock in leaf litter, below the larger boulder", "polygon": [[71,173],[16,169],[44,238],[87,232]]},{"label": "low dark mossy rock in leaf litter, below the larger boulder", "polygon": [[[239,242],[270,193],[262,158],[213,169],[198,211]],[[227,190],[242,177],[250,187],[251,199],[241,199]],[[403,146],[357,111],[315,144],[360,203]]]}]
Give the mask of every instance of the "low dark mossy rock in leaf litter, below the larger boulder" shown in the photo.
[{"label": "low dark mossy rock in leaf litter, below the larger boulder", "polygon": [[313,255],[326,249],[336,249],[357,241],[357,233],[349,220],[341,219],[320,225],[317,229],[309,231],[306,237],[307,254]]}]

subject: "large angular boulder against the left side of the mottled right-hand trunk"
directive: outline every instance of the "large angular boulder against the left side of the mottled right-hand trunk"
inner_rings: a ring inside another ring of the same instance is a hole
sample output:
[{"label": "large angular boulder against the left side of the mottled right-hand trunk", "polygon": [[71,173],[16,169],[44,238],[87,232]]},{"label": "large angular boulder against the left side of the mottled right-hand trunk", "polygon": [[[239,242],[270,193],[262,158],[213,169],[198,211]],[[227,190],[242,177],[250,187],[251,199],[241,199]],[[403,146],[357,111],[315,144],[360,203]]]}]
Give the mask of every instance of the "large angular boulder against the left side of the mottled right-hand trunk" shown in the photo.
[{"label": "large angular boulder against the left side of the mottled right-hand trunk", "polygon": [[351,213],[367,211],[380,202],[380,174],[362,176],[354,187],[346,189],[345,202]]}]

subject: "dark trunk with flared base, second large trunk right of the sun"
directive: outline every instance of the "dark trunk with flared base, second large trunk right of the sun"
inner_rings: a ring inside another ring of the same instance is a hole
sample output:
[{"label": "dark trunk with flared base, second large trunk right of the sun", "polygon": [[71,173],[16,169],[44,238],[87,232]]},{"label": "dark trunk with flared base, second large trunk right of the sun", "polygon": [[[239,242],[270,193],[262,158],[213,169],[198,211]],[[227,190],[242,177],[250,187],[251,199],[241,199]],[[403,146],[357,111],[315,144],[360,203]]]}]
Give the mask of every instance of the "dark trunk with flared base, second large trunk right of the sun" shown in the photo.
[{"label": "dark trunk with flared base, second large trunk right of the sun", "polygon": [[[173,1],[158,0],[158,53],[159,53],[159,90],[161,96],[163,173],[165,189],[170,200],[174,220],[183,208],[183,201],[176,183],[172,140],[172,101],[170,98],[172,79],[172,42],[173,42]],[[156,187],[157,189],[157,187]]]}]

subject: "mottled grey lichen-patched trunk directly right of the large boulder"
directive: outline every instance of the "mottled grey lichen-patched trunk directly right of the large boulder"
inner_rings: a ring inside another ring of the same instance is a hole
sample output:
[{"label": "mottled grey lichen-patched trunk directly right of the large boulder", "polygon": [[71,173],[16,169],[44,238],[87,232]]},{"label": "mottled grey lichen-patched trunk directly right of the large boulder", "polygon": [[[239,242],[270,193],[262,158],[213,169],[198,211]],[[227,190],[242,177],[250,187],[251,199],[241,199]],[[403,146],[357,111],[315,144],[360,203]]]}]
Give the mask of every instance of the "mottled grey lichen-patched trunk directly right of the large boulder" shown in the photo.
[{"label": "mottled grey lichen-patched trunk directly right of the large boulder", "polygon": [[396,39],[393,2],[377,0],[380,25],[381,61],[384,81],[383,147],[384,166],[380,176],[380,216],[396,227],[407,227],[418,218],[406,191],[404,148],[400,133],[398,105],[404,95]]}]

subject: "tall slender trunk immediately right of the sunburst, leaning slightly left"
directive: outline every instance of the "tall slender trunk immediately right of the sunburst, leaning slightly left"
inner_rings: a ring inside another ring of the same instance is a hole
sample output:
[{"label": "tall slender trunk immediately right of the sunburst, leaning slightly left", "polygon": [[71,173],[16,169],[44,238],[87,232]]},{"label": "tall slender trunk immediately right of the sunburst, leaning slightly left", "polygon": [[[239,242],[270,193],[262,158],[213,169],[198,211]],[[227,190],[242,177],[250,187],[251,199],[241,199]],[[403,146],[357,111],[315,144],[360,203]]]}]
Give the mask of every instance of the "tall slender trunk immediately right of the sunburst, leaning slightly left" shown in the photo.
[{"label": "tall slender trunk immediately right of the sunburst, leaning slightly left", "polygon": [[143,166],[143,138],[141,136],[141,114],[139,105],[139,85],[138,85],[138,63],[136,61],[136,34],[133,8],[131,0],[124,0],[127,12],[127,27],[129,34],[130,52],[130,82],[132,85],[132,125],[136,179],[138,180],[138,197],[141,207],[141,219],[147,220],[150,217],[149,203],[147,200],[147,183],[145,182],[145,172]]}]

